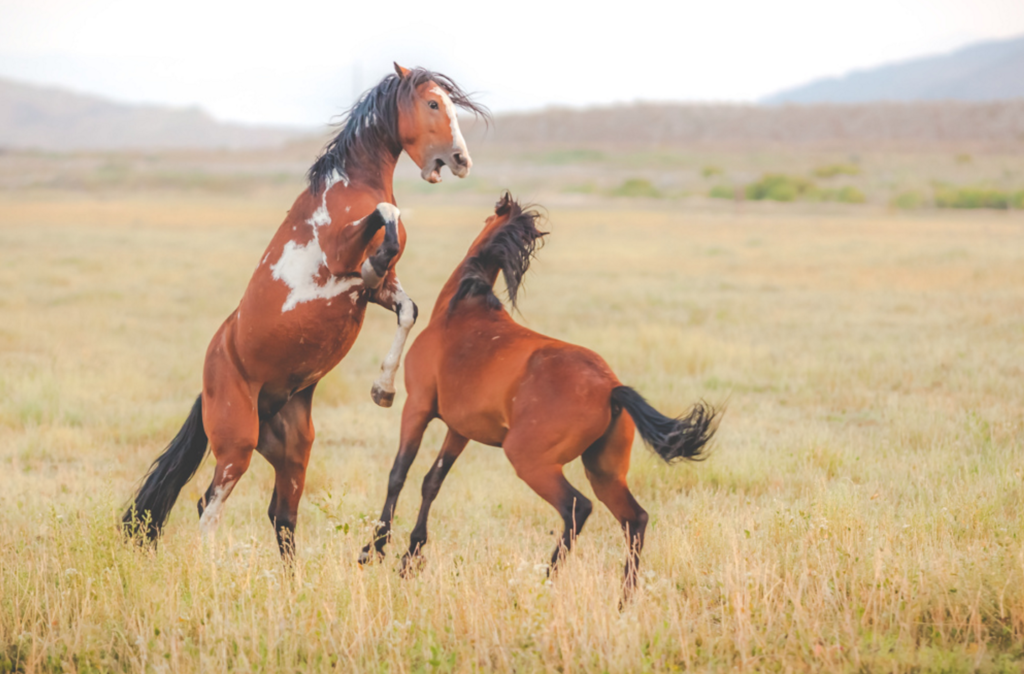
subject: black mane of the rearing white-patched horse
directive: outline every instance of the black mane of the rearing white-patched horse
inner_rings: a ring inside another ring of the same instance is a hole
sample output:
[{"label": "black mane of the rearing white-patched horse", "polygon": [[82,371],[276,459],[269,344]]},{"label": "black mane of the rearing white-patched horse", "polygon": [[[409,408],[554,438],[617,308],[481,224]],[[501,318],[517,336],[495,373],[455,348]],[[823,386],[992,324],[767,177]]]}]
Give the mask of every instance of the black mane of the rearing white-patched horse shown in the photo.
[{"label": "black mane of the rearing white-patched horse", "polygon": [[[484,121],[489,121],[490,113],[486,107],[474,102],[470,94],[463,91],[445,75],[425,68],[414,68],[404,77],[392,73],[359,96],[359,99],[342,115],[341,121],[337,124],[341,127],[341,131],[324,148],[321,156],[306,173],[309,192],[315,197],[322,185],[329,180],[338,179],[335,177],[336,173],[347,180],[348,171],[353,165],[368,161],[376,155],[390,153],[397,157],[401,153],[398,109],[412,100],[417,87],[431,81],[447,93],[453,103],[482,117]],[[376,172],[367,177],[374,181],[380,179]]]}]

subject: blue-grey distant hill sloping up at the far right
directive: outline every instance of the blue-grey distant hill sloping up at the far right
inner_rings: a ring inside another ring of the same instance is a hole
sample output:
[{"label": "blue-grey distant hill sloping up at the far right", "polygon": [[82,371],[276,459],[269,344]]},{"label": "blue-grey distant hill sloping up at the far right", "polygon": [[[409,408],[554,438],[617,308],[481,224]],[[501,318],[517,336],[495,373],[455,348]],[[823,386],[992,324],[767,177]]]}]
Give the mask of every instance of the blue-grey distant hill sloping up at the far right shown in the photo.
[{"label": "blue-grey distant hill sloping up at the far right", "polygon": [[1024,36],[856,71],[768,96],[768,103],[1024,98]]}]

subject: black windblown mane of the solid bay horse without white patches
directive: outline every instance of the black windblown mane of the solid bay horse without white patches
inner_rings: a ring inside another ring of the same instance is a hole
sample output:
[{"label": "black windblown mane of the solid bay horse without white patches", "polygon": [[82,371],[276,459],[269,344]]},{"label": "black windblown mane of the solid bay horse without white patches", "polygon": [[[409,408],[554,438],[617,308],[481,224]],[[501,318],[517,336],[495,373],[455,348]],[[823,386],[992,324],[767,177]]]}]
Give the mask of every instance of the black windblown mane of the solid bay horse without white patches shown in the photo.
[{"label": "black windblown mane of the solid bay horse without white patches", "polygon": [[505,276],[509,304],[516,308],[523,277],[548,233],[537,228],[542,215],[532,208],[524,210],[507,192],[498,202],[495,214],[507,215],[508,219],[480,245],[474,255],[462,263],[459,286],[449,302],[450,314],[466,297],[483,296],[490,308],[501,308],[502,301],[495,295],[494,281],[490,280],[499,269]]}]

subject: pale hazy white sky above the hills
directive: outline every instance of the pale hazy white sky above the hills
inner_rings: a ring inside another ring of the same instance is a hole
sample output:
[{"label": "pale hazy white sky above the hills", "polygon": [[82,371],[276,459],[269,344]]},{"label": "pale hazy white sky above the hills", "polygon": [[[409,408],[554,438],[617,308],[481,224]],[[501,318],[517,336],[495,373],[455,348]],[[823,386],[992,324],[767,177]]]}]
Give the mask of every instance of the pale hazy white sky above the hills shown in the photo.
[{"label": "pale hazy white sky above the hills", "polygon": [[0,0],[0,76],[219,119],[323,124],[392,60],[498,111],[754,100],[1024,34],[1024,0]]}]

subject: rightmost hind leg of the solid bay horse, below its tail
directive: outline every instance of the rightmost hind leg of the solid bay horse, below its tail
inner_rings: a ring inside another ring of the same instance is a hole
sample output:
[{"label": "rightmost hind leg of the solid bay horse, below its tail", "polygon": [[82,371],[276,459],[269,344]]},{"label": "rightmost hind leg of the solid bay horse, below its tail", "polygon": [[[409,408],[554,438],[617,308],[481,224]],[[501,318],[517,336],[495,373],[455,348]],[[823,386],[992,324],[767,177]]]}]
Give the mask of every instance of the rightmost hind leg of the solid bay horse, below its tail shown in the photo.
[{"label": "rightmost hind leg of the solid bay horse, below its tail", "polygon": [[647,530],[647,511],[637,503],[626,483],[633,434],[633,420],[621,414],[608,432],[583,454],[583,465],[595,496],[607,506],[626,534],[629,551],[623,577],[624,603],[636,590],[640,552]]}]

